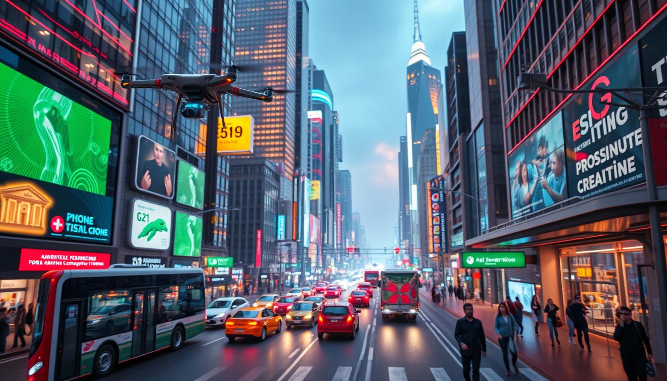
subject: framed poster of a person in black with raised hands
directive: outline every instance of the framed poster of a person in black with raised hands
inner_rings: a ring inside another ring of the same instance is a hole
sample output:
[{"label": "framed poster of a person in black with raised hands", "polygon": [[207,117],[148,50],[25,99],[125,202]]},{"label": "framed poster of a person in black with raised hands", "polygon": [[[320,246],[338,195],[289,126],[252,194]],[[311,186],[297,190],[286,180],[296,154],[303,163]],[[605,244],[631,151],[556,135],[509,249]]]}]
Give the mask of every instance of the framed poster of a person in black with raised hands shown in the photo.
[{"label": "framed poster of a person in black with raised hands", "polygon": [[173,198],[176,154],[151,139],[141,135],[137,142],[134,186],[162,198]]}]

